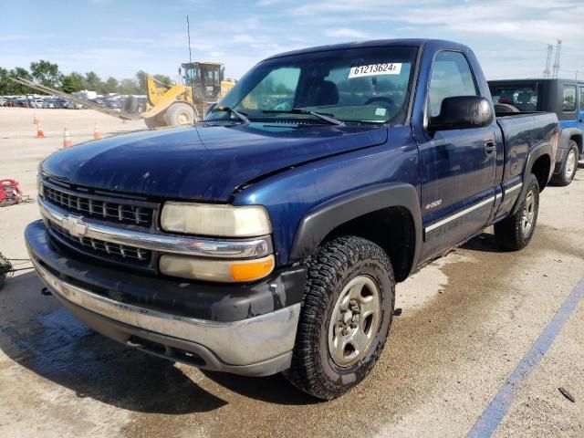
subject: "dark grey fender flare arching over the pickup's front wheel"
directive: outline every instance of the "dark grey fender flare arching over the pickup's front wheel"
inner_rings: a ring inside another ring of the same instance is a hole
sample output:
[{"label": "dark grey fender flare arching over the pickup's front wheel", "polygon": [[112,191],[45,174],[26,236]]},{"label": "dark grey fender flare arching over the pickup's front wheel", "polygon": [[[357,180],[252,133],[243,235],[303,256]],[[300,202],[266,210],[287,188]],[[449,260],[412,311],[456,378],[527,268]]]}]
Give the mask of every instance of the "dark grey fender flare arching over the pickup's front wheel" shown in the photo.
[{"label": "dark grey fender flare arching over the pickup's front wheel", "polygon": [[415,227],[412,271],[422,249],[422,213],[418,191],[412,184],[406,183],[378,184],[342,194],[318,205],[298,224],[290,260],[296,261],[312,255],[325,237],[339,225],[390,207],[403,207],[412,214]]}]

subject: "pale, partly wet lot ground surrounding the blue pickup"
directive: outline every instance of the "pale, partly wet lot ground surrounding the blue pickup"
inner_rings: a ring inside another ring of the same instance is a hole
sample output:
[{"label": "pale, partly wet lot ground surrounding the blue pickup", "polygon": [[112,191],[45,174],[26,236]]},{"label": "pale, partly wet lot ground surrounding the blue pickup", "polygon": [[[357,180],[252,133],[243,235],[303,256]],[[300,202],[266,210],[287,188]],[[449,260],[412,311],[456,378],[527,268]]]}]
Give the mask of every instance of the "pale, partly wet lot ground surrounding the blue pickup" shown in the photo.
[{"label": "pale, partly wet lot ground surrounding the blue pickup", "polygon": [[[47,135],[36,139],[33,112],[0,108],[0,178],[31,195],[65,124],[74,143],[91,139],[95,122],[104,136],[143,129],[90,110],[36,110]],[[23,230],[37,217],[35,204],[0,209],[0,251],[26,257]],[[584,170],[542,193],[526,250],[499,252],[487,230],[399,285],[403,312],[380,362],[336,401],[310,399],[280,376],[206,372],[126,349],[42,296],[32,272],[19,274],[0,290],[0,436],[451,437],[480,417],[497,437],[584,436],[584,299],[568,298],[584,277]],[[487,409],[499,391],[509,407],[500,424],[500,406]]]}]

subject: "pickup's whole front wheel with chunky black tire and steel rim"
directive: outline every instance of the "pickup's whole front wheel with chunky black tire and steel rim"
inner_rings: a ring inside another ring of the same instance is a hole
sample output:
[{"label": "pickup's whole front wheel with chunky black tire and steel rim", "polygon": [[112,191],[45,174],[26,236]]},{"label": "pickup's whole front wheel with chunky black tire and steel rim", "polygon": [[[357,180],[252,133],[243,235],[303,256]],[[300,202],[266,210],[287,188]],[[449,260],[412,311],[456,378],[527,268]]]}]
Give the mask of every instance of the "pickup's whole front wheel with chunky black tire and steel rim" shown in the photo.
[{"label": "pickup's whole front wheel with chunky black tire and steel rim", "polygon": [[307,266],[296,347],[284,375],[300,390],[331,400],[377,362],[391,327],[395,281],[389,257],[360,237],[328,242]]}]

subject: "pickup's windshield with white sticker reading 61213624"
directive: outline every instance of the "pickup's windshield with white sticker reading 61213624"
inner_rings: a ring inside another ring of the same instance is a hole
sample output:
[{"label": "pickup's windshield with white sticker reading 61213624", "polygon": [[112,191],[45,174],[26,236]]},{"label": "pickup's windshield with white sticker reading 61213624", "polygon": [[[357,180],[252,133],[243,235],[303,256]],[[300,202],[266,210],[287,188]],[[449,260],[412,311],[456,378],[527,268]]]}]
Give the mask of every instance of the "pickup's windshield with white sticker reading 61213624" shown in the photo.
[{"label": "pickup's windshield with white sticker reading 61213624", "polygon": [[[403,123],[415,47],[372,47],[268,59],[252,68],[205,120],[310,120],[304,109],[345,122]],[[276,111],[276,112],[270,112]]]}]

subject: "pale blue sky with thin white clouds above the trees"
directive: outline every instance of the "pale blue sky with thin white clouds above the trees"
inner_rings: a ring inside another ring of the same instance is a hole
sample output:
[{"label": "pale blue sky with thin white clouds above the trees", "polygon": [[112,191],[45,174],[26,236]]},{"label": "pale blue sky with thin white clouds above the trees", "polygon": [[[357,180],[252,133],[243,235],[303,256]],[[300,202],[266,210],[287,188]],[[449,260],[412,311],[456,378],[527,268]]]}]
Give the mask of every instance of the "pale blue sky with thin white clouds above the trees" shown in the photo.
[{"label": "pale blue sky with thin white clouds above the trees", "polygon": [[489,79],[541,77],[561,39],[559,76],[584,79],[584,0],[0,0],[0,67],[177,79],[186,16],[193,60],[223,62],[228,78],[291,49],[432,37],[473,48]]}]

